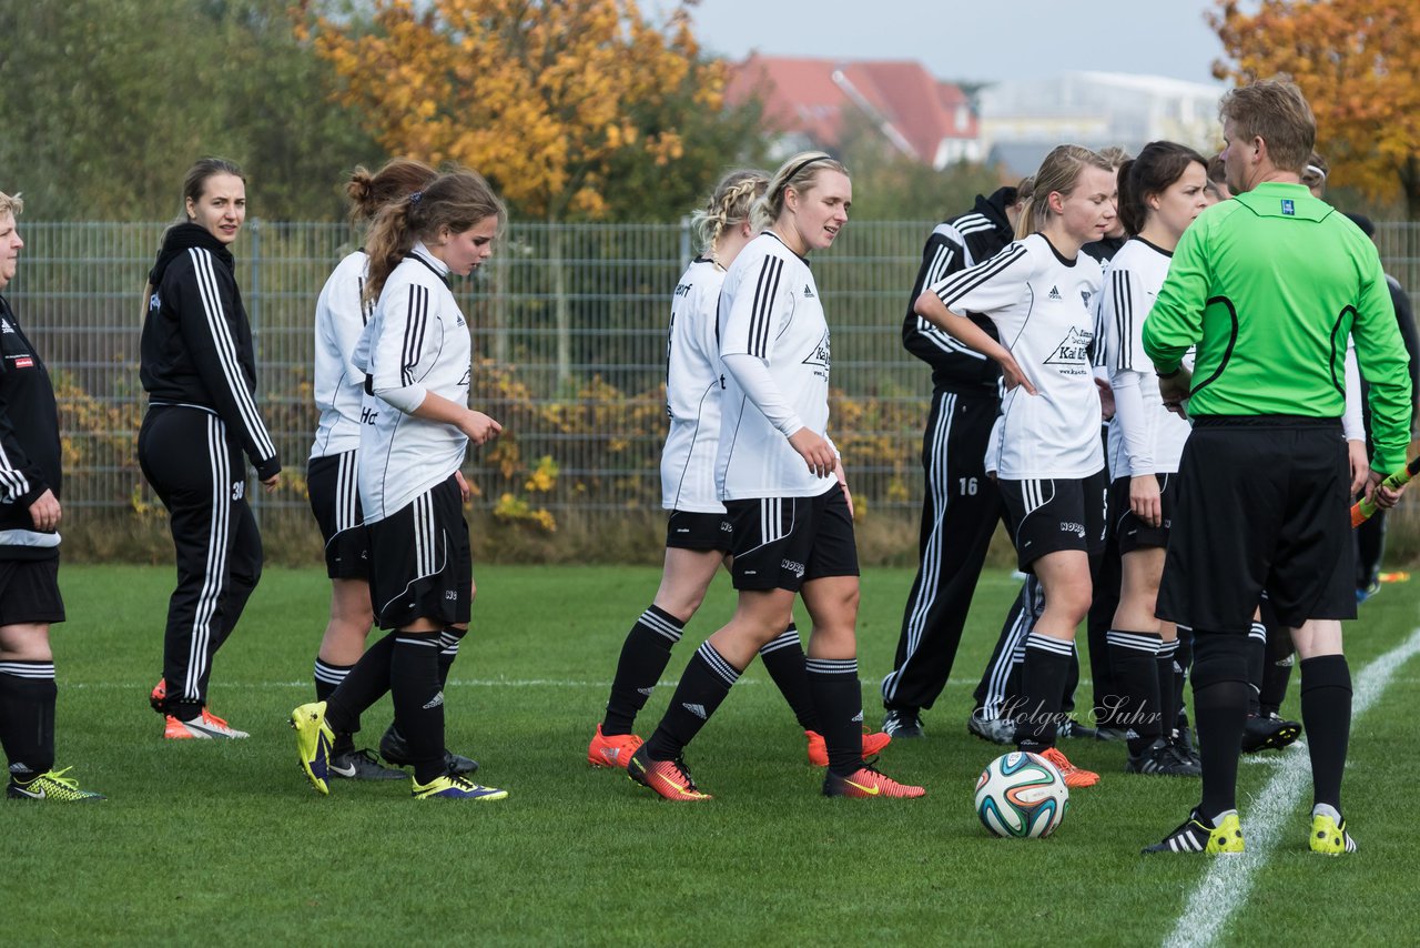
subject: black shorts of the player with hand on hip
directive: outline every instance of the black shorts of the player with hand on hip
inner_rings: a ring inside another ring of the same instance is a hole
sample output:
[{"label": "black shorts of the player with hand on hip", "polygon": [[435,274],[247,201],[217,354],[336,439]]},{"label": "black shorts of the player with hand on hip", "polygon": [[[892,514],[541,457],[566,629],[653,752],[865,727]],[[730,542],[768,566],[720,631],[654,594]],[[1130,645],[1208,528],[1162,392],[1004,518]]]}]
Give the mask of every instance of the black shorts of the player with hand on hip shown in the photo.
[{"label": "black shorts of the player with hand on hip", "polygon": [[1025,573],[1048,553],[1105,549],[1109,475],[1088,478],[997,480],[1005,502],[1005,523],[1015,543],[1015,561]]}]

